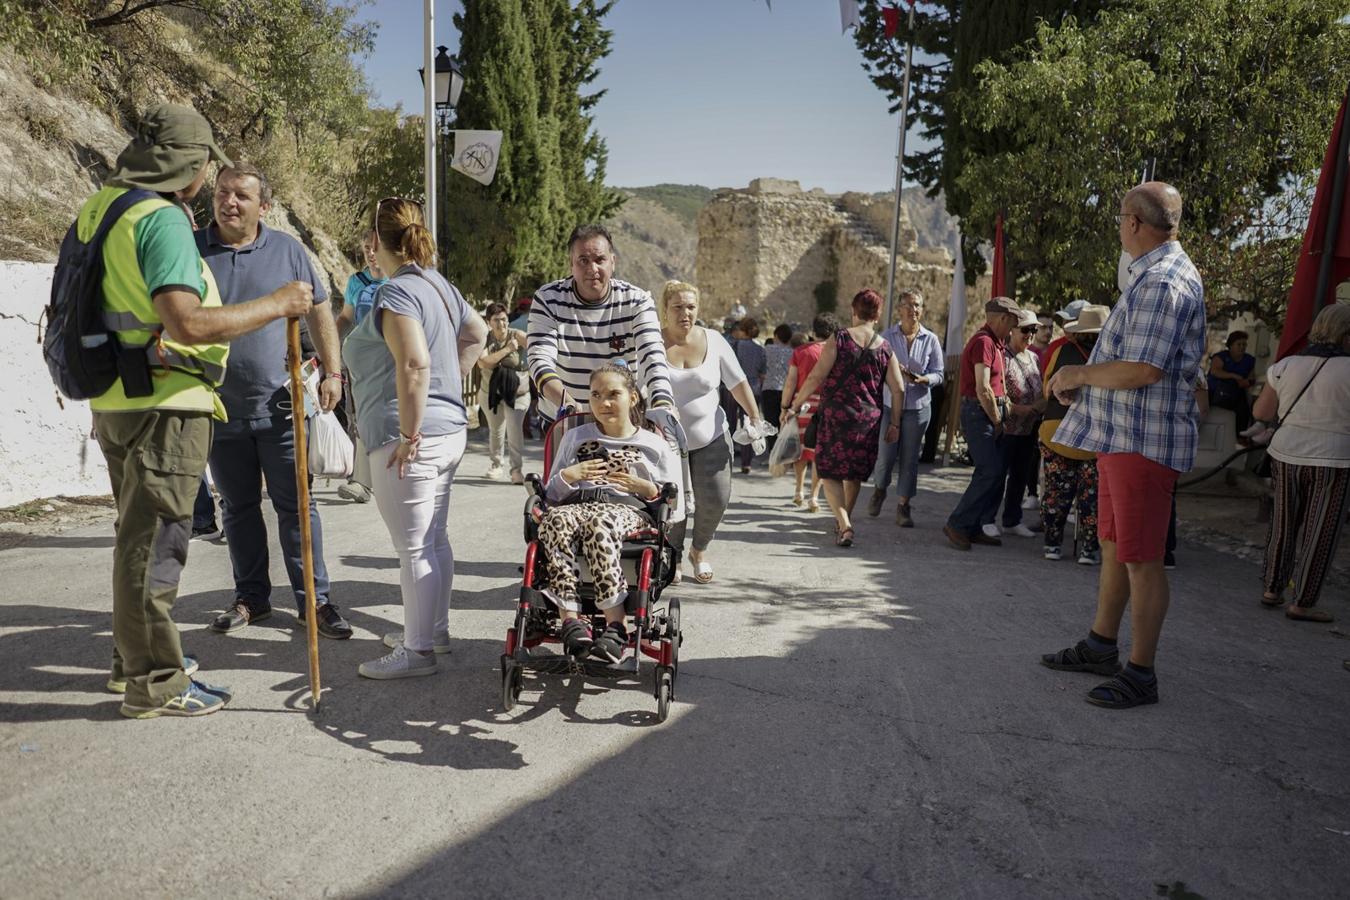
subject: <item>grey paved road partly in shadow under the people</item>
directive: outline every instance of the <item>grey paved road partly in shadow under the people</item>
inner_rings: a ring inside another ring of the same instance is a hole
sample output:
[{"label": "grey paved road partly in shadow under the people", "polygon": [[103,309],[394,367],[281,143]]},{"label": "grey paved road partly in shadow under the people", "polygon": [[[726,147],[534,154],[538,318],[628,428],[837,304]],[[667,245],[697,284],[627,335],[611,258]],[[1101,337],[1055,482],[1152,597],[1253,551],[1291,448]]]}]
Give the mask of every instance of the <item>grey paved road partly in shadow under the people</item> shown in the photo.
[{"label": "grey paved road partly in shadow under the people", "polygon": [[1260,609],[1249,563],[1185,548],[1162,703],[1108,712],[1034,663],[1084,631],[1095,571],[948,549],[959,475],[849,552],[738,478],[717,582],[678,588],[670,721],[647,684],[562,680],[506,715],[522,497],[483,468],[455,487],[454,654],[404,683],[356,677],[401,621],[383,526],[320,493],[358,636],[323,644],[317,716],[281,590],[204,629],[224,546],[193,545],[177,619],[235,703],[150,722],[101,692],[111,526],[0,552],[0,896],[1346,896],[1350,642]]}]

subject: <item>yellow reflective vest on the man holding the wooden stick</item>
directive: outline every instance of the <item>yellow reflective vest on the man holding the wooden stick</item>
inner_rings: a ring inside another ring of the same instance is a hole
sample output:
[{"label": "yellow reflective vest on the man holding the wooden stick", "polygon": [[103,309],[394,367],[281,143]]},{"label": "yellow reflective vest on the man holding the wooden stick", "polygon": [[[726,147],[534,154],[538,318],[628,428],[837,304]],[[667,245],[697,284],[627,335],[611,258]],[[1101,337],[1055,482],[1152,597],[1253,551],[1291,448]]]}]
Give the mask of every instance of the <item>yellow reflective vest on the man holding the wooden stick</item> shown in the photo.
[{"label": "yellow reflective vest on the man holding the wooden stick", "polygon": [[[108,206],[124,188],[104,188],[80,209],[77,233],[89,240]],[[150,287],[140,271],[136,225],[148,215],[171,206],[167,200],[144,200],[128,209],[108,231],[103,246],[104,324],[123,348],[144,348],[154,393],[127,397],[119,378],[105,394],[90,401],[94,412],[119,413],[146,409],[176,409],[212,413],[225,420],[225,407],[216,389],[225,379],[228,344],[180,344],[163,333]],[[196,250],[196,248],[193,248]],[[220,306],[220,291],[207,263],[198,258],[202,306]]]}]

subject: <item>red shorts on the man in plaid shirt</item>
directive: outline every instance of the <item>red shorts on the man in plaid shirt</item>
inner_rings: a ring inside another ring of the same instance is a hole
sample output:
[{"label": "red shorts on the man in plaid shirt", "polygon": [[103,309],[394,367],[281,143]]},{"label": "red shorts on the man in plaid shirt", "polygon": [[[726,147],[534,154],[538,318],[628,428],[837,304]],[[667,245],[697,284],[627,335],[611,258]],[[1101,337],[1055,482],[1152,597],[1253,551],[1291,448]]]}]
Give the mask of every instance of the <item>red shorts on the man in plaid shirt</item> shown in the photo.
[{"label": "red shorts on the man in plaid shirt", "polygon": [[1161,560],[1177,472],[1139,453],[1098,456],[1098,537],[1120,563]]}]

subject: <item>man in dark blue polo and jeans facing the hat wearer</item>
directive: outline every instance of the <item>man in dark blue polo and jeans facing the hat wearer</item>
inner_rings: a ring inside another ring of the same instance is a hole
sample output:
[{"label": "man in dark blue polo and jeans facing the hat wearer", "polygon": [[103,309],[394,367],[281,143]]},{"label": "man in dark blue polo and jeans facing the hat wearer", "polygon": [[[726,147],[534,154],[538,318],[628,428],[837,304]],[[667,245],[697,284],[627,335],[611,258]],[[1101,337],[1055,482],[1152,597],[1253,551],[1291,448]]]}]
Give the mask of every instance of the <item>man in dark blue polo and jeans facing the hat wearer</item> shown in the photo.
[{"label": "man in dark blue polo and jeans facing the hat wearer", "polygon": [[[331,410],[342,401],[342,359],[338,327],[328,308],[328,293],[315,273],[305,248],[290,235],[262,223],[271,208],[267,177],[255,166],[228,166],[216,178],[212,197],[215,221],[197,232],[197,248],[220,285],[225,306],[300,281],[310,286],[313,304],[305,321],[323,364],[319,403]],[[262,517],[262,483],[277,511],[286,575],[300,613],[305,609],[301,563],[300,498],[296,490],[296,445],[286,371],[286,327],[273,322],[235,341],[230,374],[220,389],[230,421],[216,429],[211,448],[211,474],[224,499],[225,541],[234,564],[235,602],[211,623],[213,631],[234,631],[271,615],[267,526]],[[328,638],[351,637],[351,626],[328,599],[323,529],[313,497],[306,514],[312,522],[315,598],[319,633]],[[297,614],[298,618],[298,614]]]}]

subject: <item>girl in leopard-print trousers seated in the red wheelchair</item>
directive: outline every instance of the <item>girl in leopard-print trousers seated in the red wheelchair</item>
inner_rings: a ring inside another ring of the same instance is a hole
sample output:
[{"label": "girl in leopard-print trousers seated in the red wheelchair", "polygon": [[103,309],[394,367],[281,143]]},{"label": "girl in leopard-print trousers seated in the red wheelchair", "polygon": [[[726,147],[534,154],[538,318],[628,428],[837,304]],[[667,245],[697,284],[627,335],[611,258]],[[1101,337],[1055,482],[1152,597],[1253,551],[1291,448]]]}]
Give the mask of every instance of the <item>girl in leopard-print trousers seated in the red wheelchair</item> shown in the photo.
[{"label": "girl in leopard-print trousers seated in the red wheelchair", "polygon": [[[670,444],[643,428],[643,398],[626,366],[606,363],[591,374],[590,412],[595,421],[563,436],[549,472],[549,507],[539,526],[544,594],[558,606],[567,653],[618,663],[628,644],[624,538],[652,526],[645,503],[660,497],[663,483],[680,483],[680,467]],[[586,560],[595,609],[605,615],[598,636],[579,617],[578,557]]]}]

